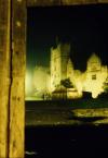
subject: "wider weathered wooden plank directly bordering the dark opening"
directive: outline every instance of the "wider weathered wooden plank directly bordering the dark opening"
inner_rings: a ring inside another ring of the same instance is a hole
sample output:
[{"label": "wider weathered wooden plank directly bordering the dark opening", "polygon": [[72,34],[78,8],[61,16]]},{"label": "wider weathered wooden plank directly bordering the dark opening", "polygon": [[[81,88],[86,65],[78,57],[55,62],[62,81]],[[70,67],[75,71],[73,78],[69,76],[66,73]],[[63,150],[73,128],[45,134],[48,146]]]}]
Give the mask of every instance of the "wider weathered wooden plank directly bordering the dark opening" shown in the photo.
[{"label": "wider weathered wooden plank directly bordering the dark opening", "polygon": [[25,151],[26,0],[12,0],[12,70],[9,158]]}]

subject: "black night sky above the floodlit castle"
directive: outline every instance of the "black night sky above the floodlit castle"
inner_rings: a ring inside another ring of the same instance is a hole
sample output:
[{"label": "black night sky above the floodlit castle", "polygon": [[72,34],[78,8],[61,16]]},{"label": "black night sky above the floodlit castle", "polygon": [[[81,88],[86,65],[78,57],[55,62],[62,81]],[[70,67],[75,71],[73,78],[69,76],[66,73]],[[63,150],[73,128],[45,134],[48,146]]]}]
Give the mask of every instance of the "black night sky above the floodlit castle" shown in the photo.
[{"label": "black night sky above the floodlit castle", "polygon": [[108,65],[108,4],[28,8],[27,14],[27,69],[49,65],[56,37],[71,44],[75,69],[85,70],[92,52]]}]

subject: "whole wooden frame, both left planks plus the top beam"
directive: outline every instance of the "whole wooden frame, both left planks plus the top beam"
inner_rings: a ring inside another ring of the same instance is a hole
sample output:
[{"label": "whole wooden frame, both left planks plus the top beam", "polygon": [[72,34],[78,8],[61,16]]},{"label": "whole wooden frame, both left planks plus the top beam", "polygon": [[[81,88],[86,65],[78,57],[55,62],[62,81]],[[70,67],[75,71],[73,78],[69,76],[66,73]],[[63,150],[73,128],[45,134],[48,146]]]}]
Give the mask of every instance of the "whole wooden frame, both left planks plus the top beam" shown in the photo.
[{"label": "whole wooden frame, both left planks plus the top beam", "polygon": [[0,158],[23,158],[27,7],[108,0],[0,0]]}]

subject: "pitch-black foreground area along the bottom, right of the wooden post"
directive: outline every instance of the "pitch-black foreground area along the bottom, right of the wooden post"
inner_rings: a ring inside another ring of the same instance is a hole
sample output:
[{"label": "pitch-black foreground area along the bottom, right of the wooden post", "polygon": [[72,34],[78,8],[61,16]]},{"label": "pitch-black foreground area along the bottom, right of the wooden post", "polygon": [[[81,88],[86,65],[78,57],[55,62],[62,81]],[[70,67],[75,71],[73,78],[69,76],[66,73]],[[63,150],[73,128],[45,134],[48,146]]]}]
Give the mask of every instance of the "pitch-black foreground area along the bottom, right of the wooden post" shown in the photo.
[{"label": "pitch-black foreground area along the bottom, right of the wooden post", "polygon": [[26,127],[26,158],[107,158],[108,125]]}]

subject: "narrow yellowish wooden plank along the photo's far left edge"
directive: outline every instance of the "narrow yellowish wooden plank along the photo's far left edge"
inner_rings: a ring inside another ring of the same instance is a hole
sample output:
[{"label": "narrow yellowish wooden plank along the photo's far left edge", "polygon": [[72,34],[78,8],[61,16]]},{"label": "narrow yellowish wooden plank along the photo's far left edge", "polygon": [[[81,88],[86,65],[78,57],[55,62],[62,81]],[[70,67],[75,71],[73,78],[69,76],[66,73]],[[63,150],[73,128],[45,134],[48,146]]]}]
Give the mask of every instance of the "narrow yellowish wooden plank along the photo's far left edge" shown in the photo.
[{"label": "narrow yellowish wooden plank along the photo's far left edge", "polygon": [[10,15],[10,0],[0,0],[0,158],[9,153]]}]

